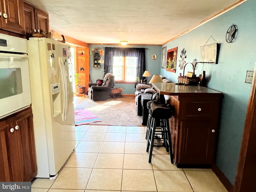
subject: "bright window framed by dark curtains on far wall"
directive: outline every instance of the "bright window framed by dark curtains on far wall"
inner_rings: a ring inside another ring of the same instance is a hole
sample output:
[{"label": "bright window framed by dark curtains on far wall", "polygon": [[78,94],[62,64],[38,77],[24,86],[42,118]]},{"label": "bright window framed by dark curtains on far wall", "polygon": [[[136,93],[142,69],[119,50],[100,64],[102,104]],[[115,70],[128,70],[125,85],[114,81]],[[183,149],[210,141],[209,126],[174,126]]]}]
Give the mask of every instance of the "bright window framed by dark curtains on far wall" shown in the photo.
[{"label": "bright window framed by dark curtains on far wall", "polygon": [[136,79],[136,69],[138,57],[113,57],[113,75],[116,81],[134,82]]}]

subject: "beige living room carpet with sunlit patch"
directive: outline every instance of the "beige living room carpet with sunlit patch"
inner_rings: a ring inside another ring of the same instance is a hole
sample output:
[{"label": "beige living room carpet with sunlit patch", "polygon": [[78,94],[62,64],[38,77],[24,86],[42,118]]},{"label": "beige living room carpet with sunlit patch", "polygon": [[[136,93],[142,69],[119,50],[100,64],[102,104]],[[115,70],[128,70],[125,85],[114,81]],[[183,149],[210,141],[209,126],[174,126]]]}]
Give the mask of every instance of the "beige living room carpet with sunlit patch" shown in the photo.
[{"label": "beige living room carpet with sunlit patch", "polygon": [[136,114],[134,97],[109,98],[105,101],[93,101],[85,98],[77,107],[82,107],[100,118],[93,125],[142,126],[140,116]]}]

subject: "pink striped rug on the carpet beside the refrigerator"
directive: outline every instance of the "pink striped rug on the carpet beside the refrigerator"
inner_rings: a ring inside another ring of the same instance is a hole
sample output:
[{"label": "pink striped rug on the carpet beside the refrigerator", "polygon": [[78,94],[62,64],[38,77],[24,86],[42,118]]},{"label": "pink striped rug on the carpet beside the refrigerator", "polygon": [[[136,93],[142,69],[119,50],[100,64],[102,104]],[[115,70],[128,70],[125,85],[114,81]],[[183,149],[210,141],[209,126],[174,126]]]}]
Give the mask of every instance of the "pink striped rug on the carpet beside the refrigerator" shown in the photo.
[{"label": "pink striped rug on the carpet beside the refrigerator", "polygon": [[100,118],[92,114],[90,111],[84,109],[83,107],[75,108],[75,124],[83,125],[94,122],[100,122]]}]

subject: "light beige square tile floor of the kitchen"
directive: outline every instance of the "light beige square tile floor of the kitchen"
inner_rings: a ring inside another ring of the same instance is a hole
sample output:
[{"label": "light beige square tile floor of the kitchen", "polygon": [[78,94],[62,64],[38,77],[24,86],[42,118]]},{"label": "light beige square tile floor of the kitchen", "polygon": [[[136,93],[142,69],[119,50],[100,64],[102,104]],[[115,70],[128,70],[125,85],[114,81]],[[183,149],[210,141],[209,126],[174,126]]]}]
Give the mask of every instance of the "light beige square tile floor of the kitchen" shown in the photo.
[{"label": "light beige square tile floor of the kitchen", "polygon": [[37,178],[32,192],[227,192],[212,170],[177,168],[163,147],[148,163],[143,126],[76,126],[76,140],[56,180]]}]

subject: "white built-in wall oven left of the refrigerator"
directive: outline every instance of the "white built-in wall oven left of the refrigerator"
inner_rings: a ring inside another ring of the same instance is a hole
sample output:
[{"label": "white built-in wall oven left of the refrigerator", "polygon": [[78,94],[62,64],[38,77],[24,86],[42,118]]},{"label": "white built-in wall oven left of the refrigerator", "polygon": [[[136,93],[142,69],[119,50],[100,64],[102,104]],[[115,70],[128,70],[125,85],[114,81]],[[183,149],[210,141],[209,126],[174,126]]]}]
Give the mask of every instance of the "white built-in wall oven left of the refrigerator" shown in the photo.
[{"label": "white built-in wall oven left of the refrigerator", "polygon": [[26,39],[0,34],[0,119],[30,104]]}]

